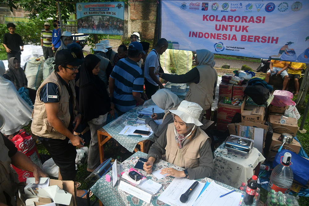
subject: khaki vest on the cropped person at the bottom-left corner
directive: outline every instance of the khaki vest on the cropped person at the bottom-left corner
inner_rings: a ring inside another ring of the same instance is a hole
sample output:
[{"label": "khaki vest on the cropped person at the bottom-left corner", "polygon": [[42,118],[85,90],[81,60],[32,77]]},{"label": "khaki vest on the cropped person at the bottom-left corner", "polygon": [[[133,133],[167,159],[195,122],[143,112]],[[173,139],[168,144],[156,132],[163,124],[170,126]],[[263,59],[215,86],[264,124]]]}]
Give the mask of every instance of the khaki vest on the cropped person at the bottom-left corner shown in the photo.
[{"label": "khaki vest on the cropped person at the bottom-left corner", "polygon": [[[4,145],[0,134],[0,200],[7,205],[16,205],[15,193],[19,183],[18,174],[10,167],[11,158],[8,156],[9,149]],[[6,199],[4,192],[11,197]]]}]

